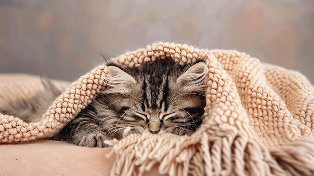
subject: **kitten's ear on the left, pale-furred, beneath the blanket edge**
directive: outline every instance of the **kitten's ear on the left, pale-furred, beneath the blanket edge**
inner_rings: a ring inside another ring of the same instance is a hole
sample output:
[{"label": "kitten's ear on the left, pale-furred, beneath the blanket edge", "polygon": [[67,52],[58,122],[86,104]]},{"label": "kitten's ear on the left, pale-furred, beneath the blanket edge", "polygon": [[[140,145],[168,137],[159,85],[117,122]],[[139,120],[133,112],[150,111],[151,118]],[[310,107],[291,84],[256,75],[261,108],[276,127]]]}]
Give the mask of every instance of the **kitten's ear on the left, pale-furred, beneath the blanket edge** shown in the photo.
[{"label": "kitten's ear on the left, pale-furred, beneath the blanket edge", "polygon": [[110,74],[110,77],[106,80],[108,85],[112,87],[119,86],[122,88],[123,86],[131,83],[136,83],[135,79],[131,75],[127,74],[120,68],[115,66],[108,66],[107,68]]}]

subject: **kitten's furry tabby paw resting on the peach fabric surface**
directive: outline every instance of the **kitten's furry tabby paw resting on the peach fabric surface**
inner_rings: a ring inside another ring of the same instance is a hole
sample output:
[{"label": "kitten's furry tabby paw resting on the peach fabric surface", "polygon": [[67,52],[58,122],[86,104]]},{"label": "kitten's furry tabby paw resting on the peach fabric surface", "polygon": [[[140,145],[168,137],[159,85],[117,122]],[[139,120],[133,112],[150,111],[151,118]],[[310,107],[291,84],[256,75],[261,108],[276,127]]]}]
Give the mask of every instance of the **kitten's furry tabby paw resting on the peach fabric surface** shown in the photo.
[{"label": "kitten's furry tabby paw resting on the peach fabric surface", "polygon": [[107,140],[107,136],[105,135],[105,133],[91,133],[83,136],[78,145],[84,147],[108,147],[108,145],[104,143],[104,140]]}]

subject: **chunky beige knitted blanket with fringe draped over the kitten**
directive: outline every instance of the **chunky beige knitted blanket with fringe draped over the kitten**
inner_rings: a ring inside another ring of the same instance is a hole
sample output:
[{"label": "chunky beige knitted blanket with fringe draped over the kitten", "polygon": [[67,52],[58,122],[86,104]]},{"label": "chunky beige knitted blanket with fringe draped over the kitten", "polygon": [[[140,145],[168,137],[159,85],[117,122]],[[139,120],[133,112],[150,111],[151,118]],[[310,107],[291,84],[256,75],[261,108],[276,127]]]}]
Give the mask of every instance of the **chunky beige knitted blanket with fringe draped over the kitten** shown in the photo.
[{"label": "chunky beige knitted blanket with fringe draped over the kitten", "polygon": [[[114,59],[135,67],[166,57],[179,64],[207,60],[203,124],[191,136],[144,133],[106,141],[113,146],[109,157],[116,157],[112,175],[142,174],[154,165],[170,175],[314,175],[314,90],[302,74],[235,50],[162,42]],[[0,109],[41,89],[33,79],[14,77],[0,77]],[[55,135],[106,88],[105,77],[106,65],[81,76],[39,122],[0,114],[0,142]]]}]

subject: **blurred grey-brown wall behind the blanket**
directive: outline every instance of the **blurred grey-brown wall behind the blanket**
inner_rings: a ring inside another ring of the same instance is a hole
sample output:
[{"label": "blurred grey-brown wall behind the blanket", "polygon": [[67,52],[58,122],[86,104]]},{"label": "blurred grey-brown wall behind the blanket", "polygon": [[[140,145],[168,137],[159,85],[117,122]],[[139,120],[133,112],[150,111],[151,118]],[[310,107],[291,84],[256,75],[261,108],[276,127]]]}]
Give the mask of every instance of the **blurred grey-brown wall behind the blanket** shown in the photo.
[{"label": "blurred grey-brown wall behind the blanket", "polygon": [[155,41],[236,49],[314,82],[314,1],[0,0],[0,73],[74,80]]}]

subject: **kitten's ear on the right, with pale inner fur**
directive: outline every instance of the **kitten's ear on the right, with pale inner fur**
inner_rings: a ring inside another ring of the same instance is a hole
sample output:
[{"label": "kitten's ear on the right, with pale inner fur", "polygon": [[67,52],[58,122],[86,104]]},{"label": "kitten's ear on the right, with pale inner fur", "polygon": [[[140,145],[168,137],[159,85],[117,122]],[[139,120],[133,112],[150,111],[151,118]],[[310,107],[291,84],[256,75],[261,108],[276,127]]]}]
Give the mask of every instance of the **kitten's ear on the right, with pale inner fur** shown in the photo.
[{"label": "kitten's ear on the right, with pale inner fur", "polygon": [[178,79],[177,84],[191,92],[204,92],[206,86],[207,67],[204,62],[198,62],[186,70]]}]

